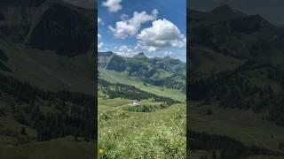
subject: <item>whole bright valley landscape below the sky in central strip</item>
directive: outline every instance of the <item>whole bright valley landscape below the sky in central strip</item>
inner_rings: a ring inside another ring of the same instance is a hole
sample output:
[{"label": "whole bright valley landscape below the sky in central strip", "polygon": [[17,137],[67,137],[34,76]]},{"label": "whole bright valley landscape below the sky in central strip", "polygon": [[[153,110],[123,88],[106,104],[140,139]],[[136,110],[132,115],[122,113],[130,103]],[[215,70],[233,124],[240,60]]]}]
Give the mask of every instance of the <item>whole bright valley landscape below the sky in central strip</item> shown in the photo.
[{"label": "whole bright valley landscape below the sky in central strip", "polygon": [[99,52],[99,158],[185,158],[186,64]]}]

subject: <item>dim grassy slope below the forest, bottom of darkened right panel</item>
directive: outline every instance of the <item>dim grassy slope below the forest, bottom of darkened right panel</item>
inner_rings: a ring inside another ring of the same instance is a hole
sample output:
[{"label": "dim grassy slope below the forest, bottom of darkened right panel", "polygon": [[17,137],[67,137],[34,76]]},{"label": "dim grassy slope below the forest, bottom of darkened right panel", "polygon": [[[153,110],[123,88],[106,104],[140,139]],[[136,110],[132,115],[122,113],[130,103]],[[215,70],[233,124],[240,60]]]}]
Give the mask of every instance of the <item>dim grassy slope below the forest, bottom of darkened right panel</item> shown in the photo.
[{"label": "dim grassy slope below the forest, bottom of darkened right panel", "polygon": [[[239,140],[245,147],[259,147],[265,148],[268,151],[274,152],[271,155],[264,155],[264,152],[254,152],[247,157],[241,158],[282,158],[283,151],[280,145],[283,143],[284,128],[279,125],[274,125],[271,122],[265,121],[264,114],[256,114],[250,110],[238,110],[238,109],[222,109],[219,108],[216,103],[209,105],[202,105],[197,102],[191,102],[189,108],[190,116],[189,123],[190,128],[195,132],[209,133],[210,135],[224,135],[234,140]],[[220,140],[211,140],[211,144],[219,143]],[[200,142],[202,145],[202,143]],[[248,149],[248,148],[247,148]],[[212,154],[219,156],[220,152],[218,148],[193,148],[188,153],[193,158],[200,158],[208,156],[212,158]],[[224,152],[232,153],[234,150],[230,149],[229,145],[224,147]],[[257,153],[259,153],[257,155]],[[279,153],[279,154],[277,154]],[[241,154],[246,154],[242,152]],[[239,154],[239,155],[241,155]],[[263,155],[261,155],[263,154]],[[280,156],[278,156],[280,155]],[[230,156],[230,155],[229,155]],[[233,157],[238,158],[238,157]]]}]

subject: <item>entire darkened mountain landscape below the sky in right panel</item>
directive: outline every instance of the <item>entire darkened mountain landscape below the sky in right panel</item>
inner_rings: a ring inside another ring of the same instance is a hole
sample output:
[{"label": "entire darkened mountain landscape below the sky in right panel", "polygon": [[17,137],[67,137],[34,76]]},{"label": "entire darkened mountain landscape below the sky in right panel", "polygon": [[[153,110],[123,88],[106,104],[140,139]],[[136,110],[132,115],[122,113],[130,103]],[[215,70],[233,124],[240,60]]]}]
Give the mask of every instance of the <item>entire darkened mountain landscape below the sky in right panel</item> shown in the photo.
[{"label": "entire darkened mountain landscape below the sky in right panel", "polygon": [[187,16],[192,158],[283,158],[284,29],[228,5]]}]

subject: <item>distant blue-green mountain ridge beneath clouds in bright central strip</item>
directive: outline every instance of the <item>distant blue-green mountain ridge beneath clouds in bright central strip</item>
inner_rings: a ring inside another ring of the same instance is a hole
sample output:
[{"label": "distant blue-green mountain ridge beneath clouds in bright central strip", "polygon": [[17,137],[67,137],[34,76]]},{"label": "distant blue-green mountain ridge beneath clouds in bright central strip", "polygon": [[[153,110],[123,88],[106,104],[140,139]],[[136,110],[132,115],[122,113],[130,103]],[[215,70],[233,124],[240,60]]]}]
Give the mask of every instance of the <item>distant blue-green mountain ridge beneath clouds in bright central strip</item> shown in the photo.
[{"label": "distant blue-green mountain ridge beneath clouds in bright central strip", "polygon": [[133,57],[122,57],[112,51],[99,52],[99,67],[114,72],[125,72],[155,86],[185,91],[186,64],[171,57],[146,57],[143,52]]}]

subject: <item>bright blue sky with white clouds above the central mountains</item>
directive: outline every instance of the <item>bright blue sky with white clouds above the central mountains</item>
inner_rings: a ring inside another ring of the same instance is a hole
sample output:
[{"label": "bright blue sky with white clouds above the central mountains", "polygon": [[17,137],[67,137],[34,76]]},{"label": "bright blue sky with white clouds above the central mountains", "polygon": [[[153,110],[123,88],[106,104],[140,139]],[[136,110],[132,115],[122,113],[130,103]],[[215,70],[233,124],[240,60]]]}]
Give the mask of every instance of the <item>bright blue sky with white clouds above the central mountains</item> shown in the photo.
[{"label": "bright blue sky with white clouds above the central mountains", "polygon": [[185,0],[99,0],[99,51],[186,59]]}]

